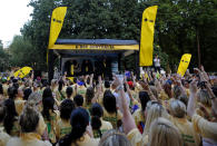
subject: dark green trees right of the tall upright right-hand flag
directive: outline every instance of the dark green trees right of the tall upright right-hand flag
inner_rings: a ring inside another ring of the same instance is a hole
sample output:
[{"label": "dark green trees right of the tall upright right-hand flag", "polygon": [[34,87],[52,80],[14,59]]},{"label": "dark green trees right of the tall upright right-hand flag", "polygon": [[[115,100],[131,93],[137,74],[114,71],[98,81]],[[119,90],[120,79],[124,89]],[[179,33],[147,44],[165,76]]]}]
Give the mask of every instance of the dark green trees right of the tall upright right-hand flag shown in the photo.
[{"label": "dark green trees right of the tall upright right-hand flag", "polygon": [[156,42],[169,55],[170,67],[176,68],[183,53],[193,55],[191,68],[198,66],[199,42],[201,64],[216,71],[217,0],[159,0],[158,4]]}]

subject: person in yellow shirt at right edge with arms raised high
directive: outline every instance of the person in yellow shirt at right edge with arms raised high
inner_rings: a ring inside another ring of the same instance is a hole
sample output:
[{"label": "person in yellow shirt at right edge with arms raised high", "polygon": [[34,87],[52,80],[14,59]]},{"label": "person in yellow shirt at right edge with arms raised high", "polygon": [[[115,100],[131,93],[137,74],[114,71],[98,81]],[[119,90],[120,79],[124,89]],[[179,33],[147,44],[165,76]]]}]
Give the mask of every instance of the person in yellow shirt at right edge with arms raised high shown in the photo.
[{"label": "person in yellow shirt at right edge with arms raised high", "polygon": [[187,107],[187,114],[191,117],[194,128],[203,137],[204,146],[215,146],[217,145],[217,93],[216,88],[214,91],[210,89],[209,85],[205,85],[210,99],[211,99],[211,110],[214,115],[214,120],[209,121],[204,117],[197,115],[196,113],[196,96],[197,96],[197,81],[193,80],[190,84],[190,97]]}]

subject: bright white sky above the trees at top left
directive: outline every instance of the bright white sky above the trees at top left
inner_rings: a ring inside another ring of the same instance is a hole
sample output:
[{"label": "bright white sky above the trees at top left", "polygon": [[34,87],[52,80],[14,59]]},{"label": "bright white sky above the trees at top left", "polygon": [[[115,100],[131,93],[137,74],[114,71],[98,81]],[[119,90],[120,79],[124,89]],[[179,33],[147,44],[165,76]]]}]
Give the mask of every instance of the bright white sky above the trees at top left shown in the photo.
[{"label": "bright white sky above the trees at top left", "polygon": [[31,20],[30,0],[0,0],[0,40],[8,47],[14,35],[20,35],[20,28]]}]

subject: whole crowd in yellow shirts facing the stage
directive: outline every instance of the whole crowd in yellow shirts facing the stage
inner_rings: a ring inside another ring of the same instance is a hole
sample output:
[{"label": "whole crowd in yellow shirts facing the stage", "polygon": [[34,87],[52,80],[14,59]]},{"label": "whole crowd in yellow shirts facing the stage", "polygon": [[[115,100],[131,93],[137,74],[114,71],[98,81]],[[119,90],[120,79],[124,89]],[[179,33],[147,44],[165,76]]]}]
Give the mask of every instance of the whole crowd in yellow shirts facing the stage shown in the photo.
[{"label": "whole crowd in yellow shirts facing the stage", "polygon": [[0,146],[217,146],[217,79],[196,72],[1,78]]}]

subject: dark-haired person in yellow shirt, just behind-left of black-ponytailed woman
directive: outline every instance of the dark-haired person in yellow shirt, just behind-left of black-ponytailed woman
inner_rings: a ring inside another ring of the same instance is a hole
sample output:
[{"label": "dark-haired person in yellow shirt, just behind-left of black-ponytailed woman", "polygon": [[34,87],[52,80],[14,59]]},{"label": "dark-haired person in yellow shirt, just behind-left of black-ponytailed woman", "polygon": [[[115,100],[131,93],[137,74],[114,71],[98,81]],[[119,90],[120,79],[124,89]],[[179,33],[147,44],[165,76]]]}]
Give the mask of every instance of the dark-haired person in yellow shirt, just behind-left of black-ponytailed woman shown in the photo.
[{"label": "dark-haired person in yellow shirt, just behind-left of black-ponytailed woman", "polygon": [[76,108],[71,99],[65,99],[60,105],[60,119],[56,126],[57,139],[62,138],[65,135],[71,132],[70,116],[71,111]]}]

